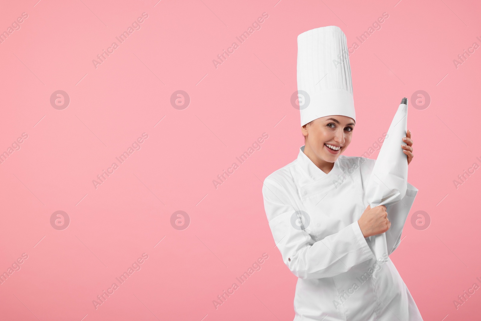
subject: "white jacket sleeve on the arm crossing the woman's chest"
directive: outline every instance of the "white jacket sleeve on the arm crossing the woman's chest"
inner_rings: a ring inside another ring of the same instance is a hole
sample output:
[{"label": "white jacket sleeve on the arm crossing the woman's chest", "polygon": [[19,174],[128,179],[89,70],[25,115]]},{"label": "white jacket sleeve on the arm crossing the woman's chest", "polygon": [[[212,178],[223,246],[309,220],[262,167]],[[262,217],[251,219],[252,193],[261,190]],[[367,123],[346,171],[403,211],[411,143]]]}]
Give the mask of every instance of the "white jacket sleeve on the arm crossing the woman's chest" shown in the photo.
[{"label": "white jacket sleeve on the arm crossing the woman's chest", "polygon": [[296,191],[287,191],[276,181],[266,179],[262,193],[274,241],[295,276],[301,279],[332,277],[375,258],[357,221],[316,242],[308,228],[296,229],[291,223],[299,209],[290,201],[289,193]]}]

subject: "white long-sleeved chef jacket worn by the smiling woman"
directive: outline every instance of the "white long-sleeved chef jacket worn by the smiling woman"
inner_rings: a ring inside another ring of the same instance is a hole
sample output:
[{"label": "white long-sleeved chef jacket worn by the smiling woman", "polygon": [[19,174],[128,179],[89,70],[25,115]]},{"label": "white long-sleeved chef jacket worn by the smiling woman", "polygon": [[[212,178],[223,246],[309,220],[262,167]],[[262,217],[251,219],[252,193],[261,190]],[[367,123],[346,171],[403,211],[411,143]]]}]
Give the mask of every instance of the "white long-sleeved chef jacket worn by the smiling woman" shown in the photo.
[{"label": "white long-sleeved chef jacket worn by the smiling woman", "polygon": [[[422,321],[394,264],[376,261],[374,236],[365,238],[357,223],[368,205],[365,190],[375,162],[340,155],[326,174],[302,146],[296,160],[264,180],[269,227],[298,277],[294,321]],[[384,257],[399,246],[417,193],[407,183],[405,197],[388,208]]]}]

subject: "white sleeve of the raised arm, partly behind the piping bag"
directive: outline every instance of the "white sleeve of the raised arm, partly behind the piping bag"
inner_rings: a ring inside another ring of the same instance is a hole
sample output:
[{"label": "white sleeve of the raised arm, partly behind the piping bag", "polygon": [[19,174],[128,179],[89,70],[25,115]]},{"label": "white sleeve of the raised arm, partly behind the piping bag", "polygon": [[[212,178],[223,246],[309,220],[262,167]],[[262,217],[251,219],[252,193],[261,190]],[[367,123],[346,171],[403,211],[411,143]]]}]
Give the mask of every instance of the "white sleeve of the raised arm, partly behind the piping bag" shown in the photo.
[{"label": "white sleeve of the raised arm, partly behind the piping bag", "polygon": [[406,195],[400,202],[390,205],[387,208],[388,219],[391,222],[391,227],[386,231],[388,255],[391,255],[401,243],[401,234],[403,232],[404,224],[417,193],[418,189],[407,182]]}]

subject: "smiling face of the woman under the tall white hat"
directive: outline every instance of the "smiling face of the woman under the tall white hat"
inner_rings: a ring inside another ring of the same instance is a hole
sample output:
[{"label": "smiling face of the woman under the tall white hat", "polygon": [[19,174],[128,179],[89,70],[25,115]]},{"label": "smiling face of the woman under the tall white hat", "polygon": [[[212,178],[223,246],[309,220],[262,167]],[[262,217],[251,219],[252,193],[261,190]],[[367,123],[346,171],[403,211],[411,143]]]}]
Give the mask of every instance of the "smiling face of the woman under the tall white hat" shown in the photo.
[{"label": "smiling face of the woman under the tall white hat", "polygon": [[306,136],[305,148],[318,160],[334,163],[351,143],[354,123],[353,118],[339,115],[313,120],[311,124],[302,127],[303,135]]}]

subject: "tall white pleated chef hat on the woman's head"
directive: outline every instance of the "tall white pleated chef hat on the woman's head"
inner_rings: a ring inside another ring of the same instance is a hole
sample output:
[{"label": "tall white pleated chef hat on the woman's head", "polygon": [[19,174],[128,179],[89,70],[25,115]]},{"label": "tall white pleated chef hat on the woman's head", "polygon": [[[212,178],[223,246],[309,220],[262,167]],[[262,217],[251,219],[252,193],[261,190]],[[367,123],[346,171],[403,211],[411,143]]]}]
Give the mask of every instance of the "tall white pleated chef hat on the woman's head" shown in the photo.
[{"label": "tall white pleated chef hat on the woman's head", "polygon": [[348,116],[355,121],[346,35],[338,26],[297,37],[297,89],[301,126],[319,117]]}]

